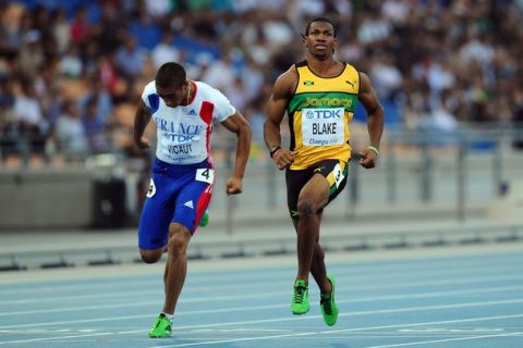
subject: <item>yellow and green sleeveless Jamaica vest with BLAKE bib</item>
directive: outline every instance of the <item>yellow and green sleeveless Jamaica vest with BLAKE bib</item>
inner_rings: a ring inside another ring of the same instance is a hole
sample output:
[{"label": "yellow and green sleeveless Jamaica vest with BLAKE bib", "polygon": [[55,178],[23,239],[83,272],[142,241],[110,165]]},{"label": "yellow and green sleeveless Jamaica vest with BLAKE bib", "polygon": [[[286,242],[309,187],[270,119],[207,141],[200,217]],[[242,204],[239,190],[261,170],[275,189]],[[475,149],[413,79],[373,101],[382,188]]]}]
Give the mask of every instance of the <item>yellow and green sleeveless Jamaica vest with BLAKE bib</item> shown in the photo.
[{"label": "yellow and green sleeveless Jamaica vest with BLAKE bib", "polygon": [[307,65],[296,63],[297,86],[287,112],[291,150],[297,151],[291,170],[303,170],[321,160],[349,161],[349,122],[356,109],[360,73],[345,67],[335,77],[319,77]]}]

